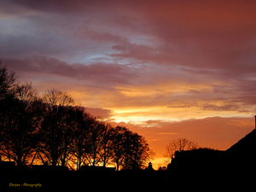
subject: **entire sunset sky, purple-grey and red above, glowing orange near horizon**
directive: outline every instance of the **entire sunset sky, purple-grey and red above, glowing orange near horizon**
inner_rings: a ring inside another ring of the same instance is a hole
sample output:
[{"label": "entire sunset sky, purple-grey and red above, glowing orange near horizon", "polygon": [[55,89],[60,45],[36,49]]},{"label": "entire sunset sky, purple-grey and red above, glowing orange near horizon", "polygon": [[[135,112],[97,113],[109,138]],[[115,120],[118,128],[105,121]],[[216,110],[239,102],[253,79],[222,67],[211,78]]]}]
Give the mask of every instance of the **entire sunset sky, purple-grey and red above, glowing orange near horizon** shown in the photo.
[{"label": "entire sunset sky, purple-grey and red above, glowing orange near horizon", "polygon": [[254,128],[256,1],[1,0],[0,60],[38,92],[143,135],[158,168],[187,137],[227,149]]}]

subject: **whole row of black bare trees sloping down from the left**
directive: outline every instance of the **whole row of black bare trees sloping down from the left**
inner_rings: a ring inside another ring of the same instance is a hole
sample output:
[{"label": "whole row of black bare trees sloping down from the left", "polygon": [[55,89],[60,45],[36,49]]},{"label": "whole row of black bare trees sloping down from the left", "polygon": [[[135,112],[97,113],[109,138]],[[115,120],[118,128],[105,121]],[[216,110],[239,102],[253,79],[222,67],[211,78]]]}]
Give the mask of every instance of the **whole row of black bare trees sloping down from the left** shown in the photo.
[{"label": "whole row of black bare trees sloping down from the left", "polygon": [[0,155],[16,166],[115,166],[143,168],[153,153],[143,136],[75,106],[60,90],[38,96],[32,84],[19,84],[0,63]]}]

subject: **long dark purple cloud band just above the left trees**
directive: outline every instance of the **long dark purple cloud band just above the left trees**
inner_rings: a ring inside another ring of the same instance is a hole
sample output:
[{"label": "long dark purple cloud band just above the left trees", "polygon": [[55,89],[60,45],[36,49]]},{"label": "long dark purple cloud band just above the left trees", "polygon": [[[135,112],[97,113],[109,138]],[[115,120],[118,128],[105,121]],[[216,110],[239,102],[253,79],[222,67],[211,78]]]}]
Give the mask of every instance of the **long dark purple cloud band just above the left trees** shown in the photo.
[{"label": "long dark purple cloud band just above the left trees", "polygon": [[105,63],[69,65],[65,61],[36,53],[26,55],[24,59],[3,59],[3,62],[11,70],[20,73],[40,73],[75,79],[94,79],[102,84],[106,82],[129,84],[129,79],[137,76],[135,73],[129,73],[129,70],[121,65]]}]

